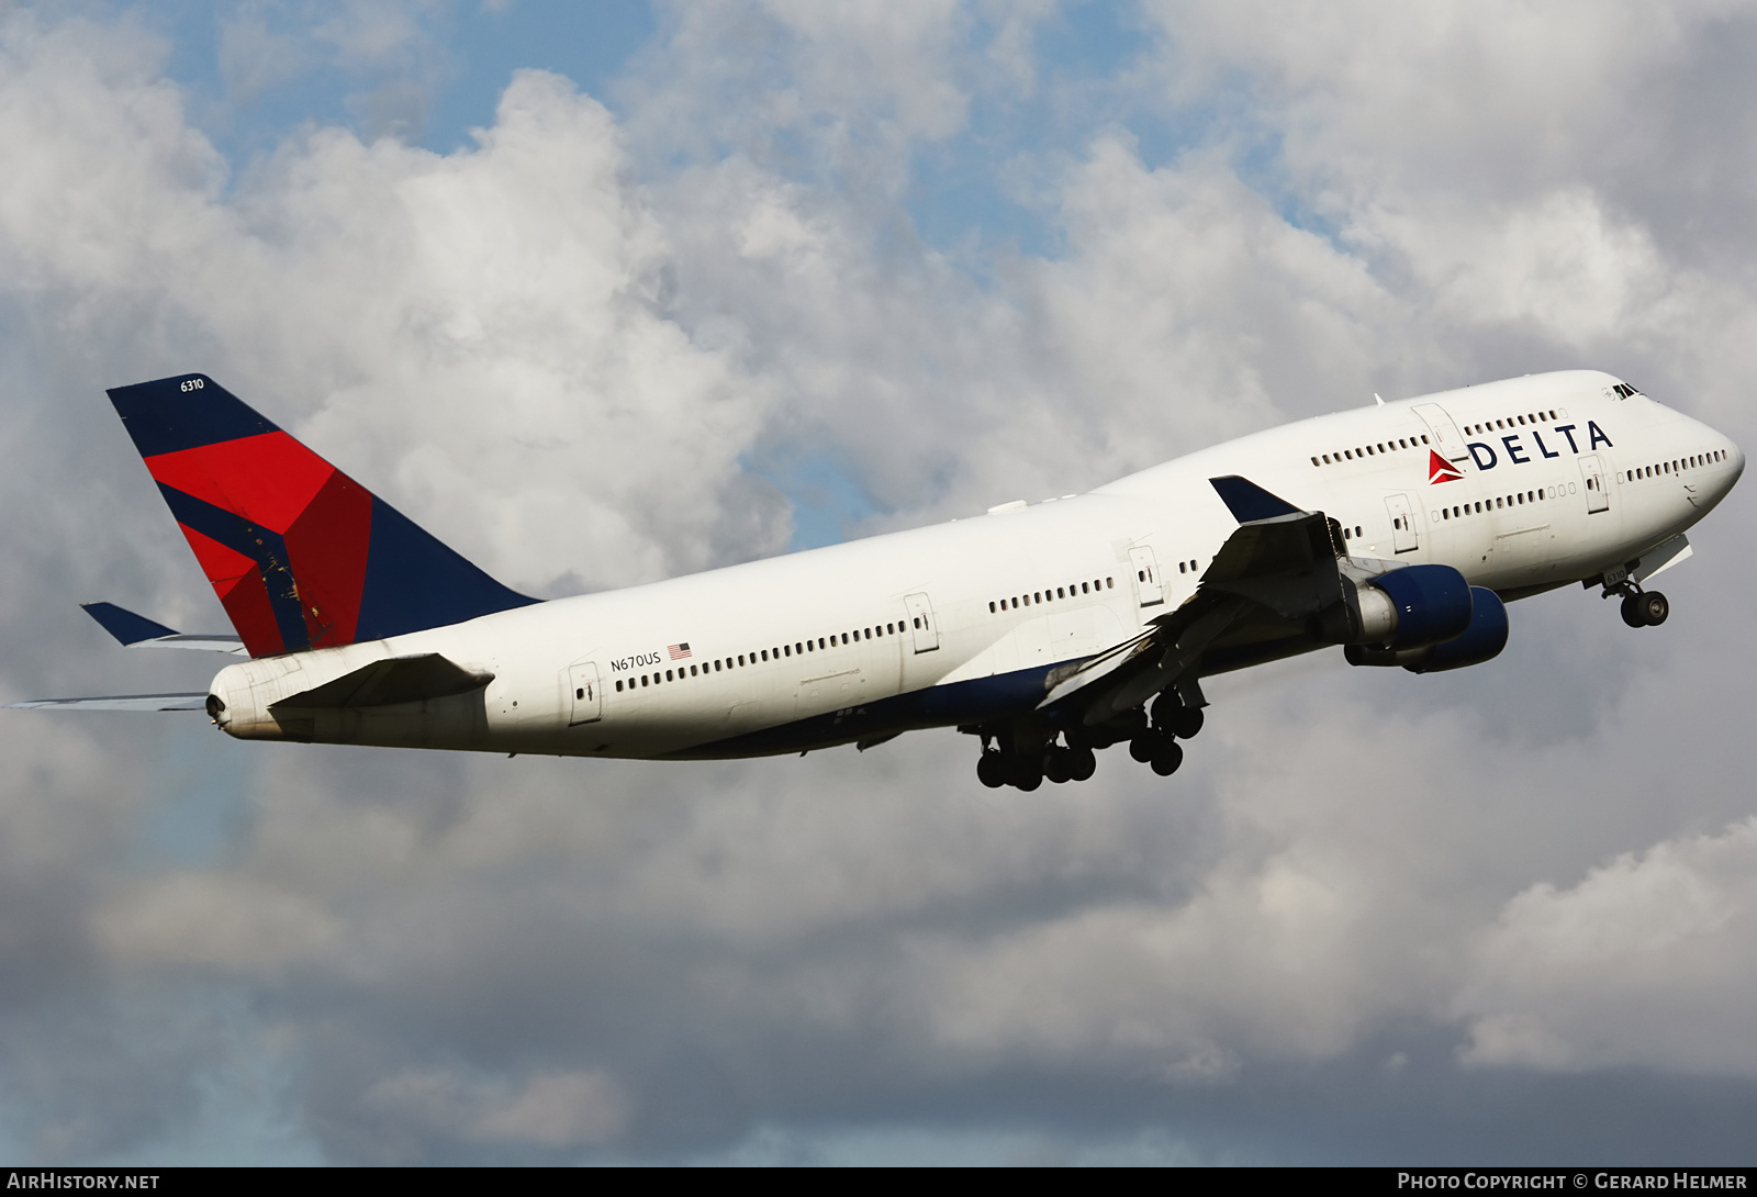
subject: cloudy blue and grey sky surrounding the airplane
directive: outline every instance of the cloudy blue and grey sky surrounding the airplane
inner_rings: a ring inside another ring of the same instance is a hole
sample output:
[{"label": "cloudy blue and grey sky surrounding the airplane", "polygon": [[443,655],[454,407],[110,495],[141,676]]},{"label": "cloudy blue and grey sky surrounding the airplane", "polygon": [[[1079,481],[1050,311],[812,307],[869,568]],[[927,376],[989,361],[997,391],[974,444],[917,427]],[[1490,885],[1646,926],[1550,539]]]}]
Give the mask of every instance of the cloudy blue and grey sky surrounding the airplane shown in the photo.
[{"label": "cloudy blue and grey sky surrounding the airplane", "polygon": [[[1546,369],[1757,441],[1757,7],[0,4],[0,701],[223,612],[202,371],[545,598]],[[1172,779],[0,712],[19,1164],[1748,1164],[1750,497]],[[156,657],[195,657],[165,661]]]}]

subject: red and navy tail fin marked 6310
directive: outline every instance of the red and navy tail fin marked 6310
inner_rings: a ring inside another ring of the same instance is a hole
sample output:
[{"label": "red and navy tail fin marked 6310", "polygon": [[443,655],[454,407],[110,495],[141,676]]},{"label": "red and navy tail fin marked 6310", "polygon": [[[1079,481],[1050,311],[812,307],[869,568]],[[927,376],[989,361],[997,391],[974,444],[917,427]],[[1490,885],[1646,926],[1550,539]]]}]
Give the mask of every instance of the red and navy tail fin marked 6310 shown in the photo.
[{"label": "red and navy tail fin marked 6310", "polygon": [[253,657],[536,603],[206,374],[116,387],[109,397]]}]

